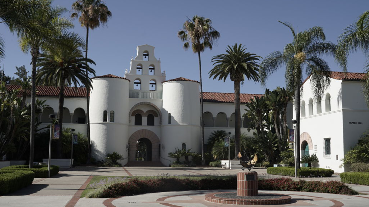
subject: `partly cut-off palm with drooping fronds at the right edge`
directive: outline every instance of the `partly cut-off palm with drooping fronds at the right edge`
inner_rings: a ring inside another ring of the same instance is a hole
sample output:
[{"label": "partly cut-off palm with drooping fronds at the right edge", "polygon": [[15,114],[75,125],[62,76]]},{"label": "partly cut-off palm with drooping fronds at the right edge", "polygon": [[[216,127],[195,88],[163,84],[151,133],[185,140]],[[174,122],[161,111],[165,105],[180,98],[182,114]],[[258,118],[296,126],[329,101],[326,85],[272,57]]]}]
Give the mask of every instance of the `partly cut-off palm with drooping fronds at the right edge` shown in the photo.
[{"label": "partly cut-off palm with drooping fronds at the right edge", "polygon": [[346,27],[338,37],[336,60],[344,71],[347,71],[348,53],[357,49],[362,50],[366,56],[363,94],[369,105],[369,10],[365,11],[357,22]]}]

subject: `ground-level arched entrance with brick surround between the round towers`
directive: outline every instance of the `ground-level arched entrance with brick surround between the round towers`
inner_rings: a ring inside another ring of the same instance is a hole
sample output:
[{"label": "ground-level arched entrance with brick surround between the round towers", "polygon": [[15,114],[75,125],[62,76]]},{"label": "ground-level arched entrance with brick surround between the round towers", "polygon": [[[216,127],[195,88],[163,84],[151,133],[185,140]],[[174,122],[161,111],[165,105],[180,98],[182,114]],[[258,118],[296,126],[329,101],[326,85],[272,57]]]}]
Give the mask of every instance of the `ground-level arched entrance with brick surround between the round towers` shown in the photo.
[{"label": "ground-level arched entrance with brick surround between the round towers", "polygon": [[[147,129],[137,130],[130,136],[128,143],[130,145],[128,161],[135,161],[138,157],[143,157],[144,161],[160,161],[160,140],[153,131]],[[142,151],[138,152],[138,149]]]}]

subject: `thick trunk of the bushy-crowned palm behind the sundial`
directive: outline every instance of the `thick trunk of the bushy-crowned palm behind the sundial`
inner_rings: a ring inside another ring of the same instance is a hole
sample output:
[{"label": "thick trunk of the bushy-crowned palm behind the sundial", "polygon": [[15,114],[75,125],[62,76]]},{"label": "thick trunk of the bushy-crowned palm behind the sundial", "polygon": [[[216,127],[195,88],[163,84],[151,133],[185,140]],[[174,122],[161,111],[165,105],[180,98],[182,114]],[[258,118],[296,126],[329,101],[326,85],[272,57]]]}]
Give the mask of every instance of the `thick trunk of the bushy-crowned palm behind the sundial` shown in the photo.
[{"label": "thick trunk of the bushy-crowned palm behind the sundial", "polygon": [[239,80],[234,83],[234,158],[237,158],[238,152],[241,152],[241,109],[239,99]]}]

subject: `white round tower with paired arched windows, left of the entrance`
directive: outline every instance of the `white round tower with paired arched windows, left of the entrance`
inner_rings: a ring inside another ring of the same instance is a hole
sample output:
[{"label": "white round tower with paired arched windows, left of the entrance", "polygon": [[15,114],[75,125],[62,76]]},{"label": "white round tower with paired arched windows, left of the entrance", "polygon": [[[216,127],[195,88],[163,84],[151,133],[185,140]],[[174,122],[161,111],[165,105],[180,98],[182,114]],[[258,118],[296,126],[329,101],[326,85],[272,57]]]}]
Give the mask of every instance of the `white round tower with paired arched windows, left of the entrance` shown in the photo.
[{"label": "white round tower with paired arched windows, left of the entrance", "polygon": [[130,80],[111,74],[92,78],[90,130],[92,154],[103,160],[107,153],[128,157],[128,88]]}]

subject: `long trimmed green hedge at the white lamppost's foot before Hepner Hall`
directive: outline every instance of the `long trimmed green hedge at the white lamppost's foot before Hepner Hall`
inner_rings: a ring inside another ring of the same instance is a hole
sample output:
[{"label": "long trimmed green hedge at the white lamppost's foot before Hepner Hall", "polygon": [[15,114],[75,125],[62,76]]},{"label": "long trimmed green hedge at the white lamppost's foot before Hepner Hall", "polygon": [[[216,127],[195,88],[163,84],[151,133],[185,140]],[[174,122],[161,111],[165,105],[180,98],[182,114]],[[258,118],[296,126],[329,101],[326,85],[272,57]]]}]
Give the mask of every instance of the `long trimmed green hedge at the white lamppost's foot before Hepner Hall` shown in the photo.
[{"label": "long trimmed green hedge at the white lamppost's foot before Hepner Hall", "polygon": [[[269,167],[266,172],[271,175],[295,176],[294,167]],[[331,169],[324,168],[300,168],[297,169],[297,176],[304,177],[330,177],[334,173]]]}]

